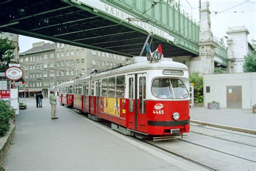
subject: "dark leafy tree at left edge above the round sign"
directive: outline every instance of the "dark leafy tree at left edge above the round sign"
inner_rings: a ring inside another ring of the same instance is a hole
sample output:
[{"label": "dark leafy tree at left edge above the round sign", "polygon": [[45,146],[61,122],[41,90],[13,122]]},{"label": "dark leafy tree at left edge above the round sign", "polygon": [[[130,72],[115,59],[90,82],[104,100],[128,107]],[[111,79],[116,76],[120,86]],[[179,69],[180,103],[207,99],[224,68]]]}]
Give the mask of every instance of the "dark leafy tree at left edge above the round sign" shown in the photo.
[{"label": "dark leafy tree at left edge above the round sign", "polygon": [[12,45],[12,42],[8,41],[8,39],[0,39],[0,62],[2,63],[0,72],[4,72],[9,63],[14,63],[12,59],[14,59],[15,48],[16,47]]}]

